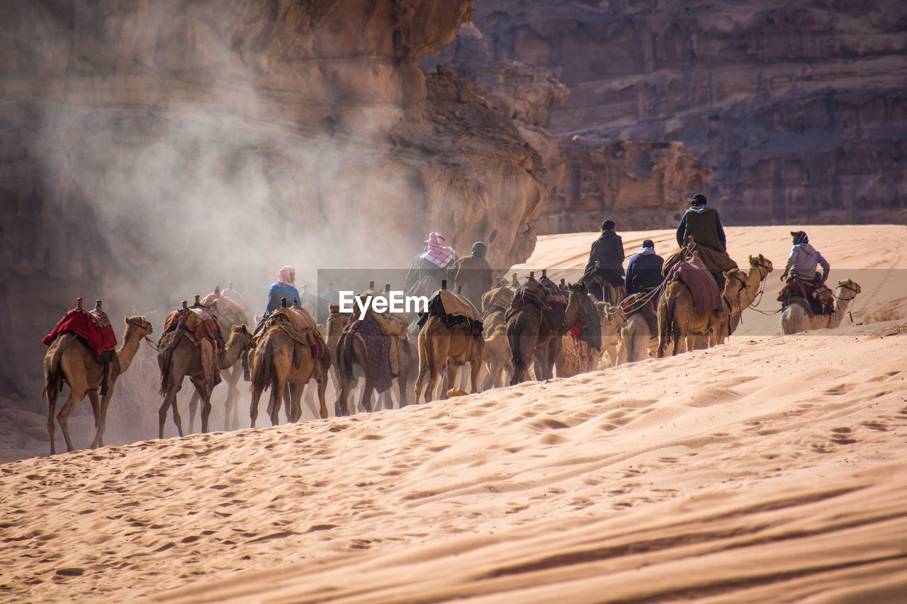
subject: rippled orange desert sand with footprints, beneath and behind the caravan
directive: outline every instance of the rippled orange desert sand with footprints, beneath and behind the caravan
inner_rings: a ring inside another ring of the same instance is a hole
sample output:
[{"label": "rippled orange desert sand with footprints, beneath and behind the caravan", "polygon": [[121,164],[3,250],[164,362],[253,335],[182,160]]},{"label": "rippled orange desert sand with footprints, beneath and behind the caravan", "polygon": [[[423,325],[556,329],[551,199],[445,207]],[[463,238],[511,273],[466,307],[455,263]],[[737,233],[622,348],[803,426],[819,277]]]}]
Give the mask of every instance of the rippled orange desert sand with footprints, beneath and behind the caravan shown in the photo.
[{"label": "rippled orange desert sand with footprints, beneath and behind the caravan", "polygon": [[[766,312],[791,229],[727,229],[775,265]],[[907,227],[805,229],[863,287],[834,331],[747,310],[672,358],[3,463],[0,599],[903,601]],[[516,270],[570,276],[595,236]]]}]

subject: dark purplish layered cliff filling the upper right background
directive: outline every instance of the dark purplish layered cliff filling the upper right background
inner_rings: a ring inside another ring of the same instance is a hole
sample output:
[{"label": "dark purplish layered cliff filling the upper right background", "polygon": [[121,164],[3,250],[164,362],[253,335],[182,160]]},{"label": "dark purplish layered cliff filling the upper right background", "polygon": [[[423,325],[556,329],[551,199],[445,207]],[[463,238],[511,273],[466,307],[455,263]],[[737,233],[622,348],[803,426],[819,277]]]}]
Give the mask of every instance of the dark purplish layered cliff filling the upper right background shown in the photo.
[{"label": "dark purplish layered cliff filling the upper right background", "polygon": [[728,223],[899,221],[907,5],[483,0],[496,59],[571,94],[551,132],[681,141]]}]

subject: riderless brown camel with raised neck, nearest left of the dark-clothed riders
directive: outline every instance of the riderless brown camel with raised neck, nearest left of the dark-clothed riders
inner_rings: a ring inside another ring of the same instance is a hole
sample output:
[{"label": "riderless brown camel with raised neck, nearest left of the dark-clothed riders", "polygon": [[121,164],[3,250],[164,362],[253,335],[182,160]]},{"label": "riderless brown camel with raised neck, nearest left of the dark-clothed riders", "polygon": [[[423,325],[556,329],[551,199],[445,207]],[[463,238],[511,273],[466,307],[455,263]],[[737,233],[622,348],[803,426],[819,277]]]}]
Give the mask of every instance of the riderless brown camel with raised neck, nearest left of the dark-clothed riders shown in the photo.
[{"label": "riderless brown camel with raised neck, nearest left of the dark-clothed riders", "polygon": [[[580,279],[579,283],[571,283],[570,297],[567,301],[564,323],[560,329],[551,329],[548,320],[542,315],[541,309],[534,304],[523,304],[512,311],[507,319],[507,341],[511,346],[511,359],[513,375],[510,385],[517,385],[526,379],[526,371],[532,363],[533,356],[538,351],[547,353],[544,362],[540,363],[540,379],[550,379],[554,359],[558,356],[561,347],[561,336],[566,334],[580,312],[580,301],[587,299],[586,284]],[[421,367],[420,367],[421,370]]]}]

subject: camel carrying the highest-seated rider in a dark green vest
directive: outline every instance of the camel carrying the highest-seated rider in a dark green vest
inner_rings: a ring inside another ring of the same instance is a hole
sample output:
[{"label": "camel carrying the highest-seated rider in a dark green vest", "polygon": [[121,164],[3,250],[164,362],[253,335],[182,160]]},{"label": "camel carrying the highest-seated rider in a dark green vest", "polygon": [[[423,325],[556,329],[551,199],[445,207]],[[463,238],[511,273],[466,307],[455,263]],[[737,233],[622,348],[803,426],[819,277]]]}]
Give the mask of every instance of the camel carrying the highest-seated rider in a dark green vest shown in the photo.
[{"label": "camel carrying the highest-seated rider in a dark green vest", "polygon": [[[694,253],[694,258],[697,254]],[[740,291],[746,287],[746,273],[738,268],[725,271],[722,292],[723,307],[705,315],[696,312],[693,295],[682,281],[666,284],[658,302],[658,352],[663,358],[668,340],[674,340],[672,356],[696,348],[724,344],[728,333],[728,319],[737,311]]]}]

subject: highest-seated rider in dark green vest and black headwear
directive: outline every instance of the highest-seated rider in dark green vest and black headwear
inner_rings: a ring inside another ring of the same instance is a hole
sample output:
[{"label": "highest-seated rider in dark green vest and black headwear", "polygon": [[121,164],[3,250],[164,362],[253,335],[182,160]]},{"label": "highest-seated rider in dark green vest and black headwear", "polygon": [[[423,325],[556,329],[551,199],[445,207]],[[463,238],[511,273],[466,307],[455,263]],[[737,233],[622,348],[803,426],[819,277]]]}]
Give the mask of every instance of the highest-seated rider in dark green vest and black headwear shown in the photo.
[{"label": "highest-seated rider in dark green vest and black headwear", "polygon": [[703,264],[715,278],[718,289],[725,286],[724,271],[737,268],[736,262],[727,255],[727,238],[721,226],[718,211],[707,205],[706,196],[697,193],[689,200],[689,208],[684,212],[678,225],[678,246],[683,248],[690,239],[695,244]]}]

